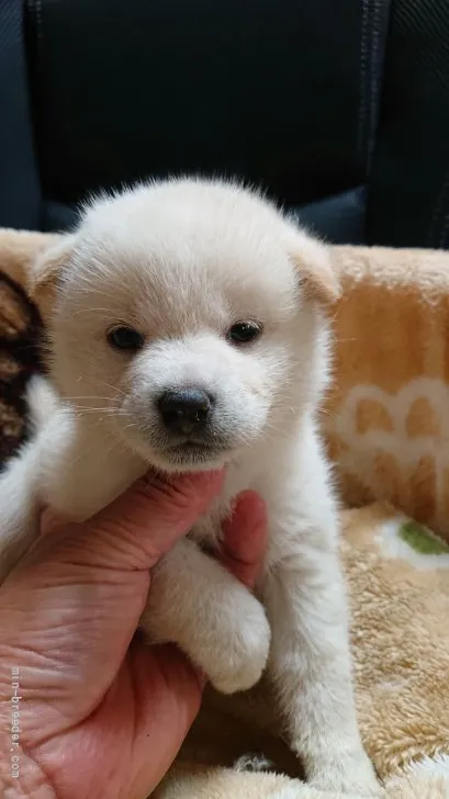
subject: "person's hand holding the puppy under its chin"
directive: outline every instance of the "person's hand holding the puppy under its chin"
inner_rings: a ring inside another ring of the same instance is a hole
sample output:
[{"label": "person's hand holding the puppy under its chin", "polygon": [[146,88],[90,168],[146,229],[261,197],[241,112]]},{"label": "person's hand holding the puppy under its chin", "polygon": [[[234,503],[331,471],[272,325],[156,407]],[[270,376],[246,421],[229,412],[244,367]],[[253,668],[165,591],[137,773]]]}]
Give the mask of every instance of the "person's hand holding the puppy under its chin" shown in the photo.
[{"label": "person's hand holding the puppy under its chin", "polygon": [[[8,799],[144,799],[166,774],[204,679],[173,646],[148,648],[135,632],[151,567],[222,480],[153,476],[89,522],[44,516],[45,534],[0,587],[0,785]],[[242,495],[224,533],[223,563],[251,587],[266,543],[255,494]]]}]

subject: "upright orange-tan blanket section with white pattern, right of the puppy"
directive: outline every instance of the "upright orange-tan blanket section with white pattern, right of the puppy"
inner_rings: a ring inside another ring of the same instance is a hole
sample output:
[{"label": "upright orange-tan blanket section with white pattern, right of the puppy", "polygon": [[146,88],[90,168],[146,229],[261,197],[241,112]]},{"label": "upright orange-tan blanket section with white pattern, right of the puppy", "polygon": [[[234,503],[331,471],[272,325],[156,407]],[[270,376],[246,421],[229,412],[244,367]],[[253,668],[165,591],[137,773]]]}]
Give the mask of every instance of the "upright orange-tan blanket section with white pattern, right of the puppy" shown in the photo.
[{"label": "upright orange-tan blanket section with white pattern, right of the puppy", "polygon": [[349,505],[389,499],[449,538],[449,254],[335,248],[324,416]]}]

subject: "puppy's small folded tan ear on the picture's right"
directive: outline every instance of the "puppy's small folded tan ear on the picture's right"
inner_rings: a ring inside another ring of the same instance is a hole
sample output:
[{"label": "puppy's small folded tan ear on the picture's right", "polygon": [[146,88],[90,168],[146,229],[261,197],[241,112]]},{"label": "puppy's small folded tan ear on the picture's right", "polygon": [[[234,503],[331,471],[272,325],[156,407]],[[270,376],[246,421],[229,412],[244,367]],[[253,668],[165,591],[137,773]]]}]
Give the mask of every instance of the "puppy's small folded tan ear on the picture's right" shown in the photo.
[{"label": "puppy's small folded tan ear on the picture's right", "polygon": [[338,268],[333,262],[332,248],[328,245],[300,232],[291,251],[291,259],[306,296],[325,307],[340,297]]}]

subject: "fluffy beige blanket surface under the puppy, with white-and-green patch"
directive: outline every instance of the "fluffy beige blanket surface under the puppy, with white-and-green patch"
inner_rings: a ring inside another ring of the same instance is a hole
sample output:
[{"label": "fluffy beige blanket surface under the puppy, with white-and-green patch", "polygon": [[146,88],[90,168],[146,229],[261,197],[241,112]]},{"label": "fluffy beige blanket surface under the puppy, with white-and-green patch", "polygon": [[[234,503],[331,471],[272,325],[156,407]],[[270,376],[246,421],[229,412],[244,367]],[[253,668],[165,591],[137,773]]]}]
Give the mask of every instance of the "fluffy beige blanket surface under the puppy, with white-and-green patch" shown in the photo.
[{"label": "fluffy beige blanket surface under the puppy, with white-and-green patch", "polygon": [[[447,799],[449,547],[388,504],[344,511],[343,527],[367,749],[389,799]],[[298,774],[272,708],[267,686],[232,698],[207,694],[178,770],[154,798],[343,799],[287,777],[216,768],[256,751],[271,768]]]}]

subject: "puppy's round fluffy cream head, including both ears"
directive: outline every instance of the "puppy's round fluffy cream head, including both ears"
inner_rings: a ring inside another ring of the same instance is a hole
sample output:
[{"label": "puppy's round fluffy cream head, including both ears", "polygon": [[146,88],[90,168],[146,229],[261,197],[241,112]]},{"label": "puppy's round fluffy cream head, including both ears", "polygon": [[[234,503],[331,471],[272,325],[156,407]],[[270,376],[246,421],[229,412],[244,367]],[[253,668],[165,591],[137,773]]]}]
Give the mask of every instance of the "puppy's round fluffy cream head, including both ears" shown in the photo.
[{"label": "puppy's round fluffy cream head, including both ears", "polygon": [[218,466],[304,400],[312,295],[336,291],[326,258],[235,187],[167,182],[99,202],[37,266],[37,293],[57,283],[55,382],[150,464]]}]

